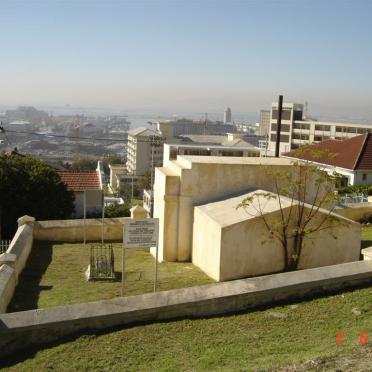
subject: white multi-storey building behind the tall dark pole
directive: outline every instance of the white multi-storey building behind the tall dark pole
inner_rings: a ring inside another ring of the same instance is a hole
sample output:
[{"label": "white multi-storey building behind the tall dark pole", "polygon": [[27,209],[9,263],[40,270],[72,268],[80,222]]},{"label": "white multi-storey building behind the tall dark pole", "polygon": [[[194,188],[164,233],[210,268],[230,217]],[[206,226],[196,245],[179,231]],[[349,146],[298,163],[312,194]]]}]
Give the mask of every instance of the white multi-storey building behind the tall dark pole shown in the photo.
[{"label": "white multi-storey building behind the tall dark pole", "polygon": [[[270,111],[268,154],[274,155],[278,103]],[[303,116],[303,105],[283,103],[279,152],[285,153],[306,143],[318,143],[328,139],[343,140],[372,132],[371,124],[352,124],[309,120]]]}]

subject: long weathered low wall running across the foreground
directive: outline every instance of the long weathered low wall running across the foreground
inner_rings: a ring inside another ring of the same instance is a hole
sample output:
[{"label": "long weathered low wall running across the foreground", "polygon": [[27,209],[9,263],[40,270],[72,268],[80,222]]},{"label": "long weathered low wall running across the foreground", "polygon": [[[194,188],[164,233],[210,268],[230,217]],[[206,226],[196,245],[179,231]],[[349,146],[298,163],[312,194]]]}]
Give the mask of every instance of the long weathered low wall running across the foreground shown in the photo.
[{"label": "long weathered low wall running across the foreground", "polygon": [[236,312],[372,282],[372,261],[0,315],[0,356],[88,329]]}]

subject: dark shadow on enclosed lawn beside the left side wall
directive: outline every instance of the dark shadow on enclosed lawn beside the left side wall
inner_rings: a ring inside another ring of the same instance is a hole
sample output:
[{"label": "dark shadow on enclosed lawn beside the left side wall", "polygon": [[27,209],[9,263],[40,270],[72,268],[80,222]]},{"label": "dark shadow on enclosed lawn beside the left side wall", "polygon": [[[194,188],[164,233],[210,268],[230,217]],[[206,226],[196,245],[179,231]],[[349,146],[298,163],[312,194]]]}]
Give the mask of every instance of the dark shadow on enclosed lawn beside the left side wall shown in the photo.
[{"label": "dark shadow on enclosed lawn beside the left side wall", "polygon": [[36,309],[40,292],[53,288],[52,285],[40,285],[41,278],[52,261],[52,251],[51,242],[37,242],[33,246],[8,306],[8,313]]}]

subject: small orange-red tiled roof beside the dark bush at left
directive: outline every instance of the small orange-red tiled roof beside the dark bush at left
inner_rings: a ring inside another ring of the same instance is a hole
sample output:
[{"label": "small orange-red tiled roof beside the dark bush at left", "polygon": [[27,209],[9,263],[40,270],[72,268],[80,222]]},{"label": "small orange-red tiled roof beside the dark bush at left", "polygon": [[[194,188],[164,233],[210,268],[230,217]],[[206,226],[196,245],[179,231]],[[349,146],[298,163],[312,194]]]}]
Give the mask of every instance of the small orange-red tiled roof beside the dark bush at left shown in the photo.
[{"label": "small orange-red tiled roof beside the dark bush at left", "polygon": [[99,179],[96,171],[69,170],[57,171],[63,183],[71,191],[99,190]]}]

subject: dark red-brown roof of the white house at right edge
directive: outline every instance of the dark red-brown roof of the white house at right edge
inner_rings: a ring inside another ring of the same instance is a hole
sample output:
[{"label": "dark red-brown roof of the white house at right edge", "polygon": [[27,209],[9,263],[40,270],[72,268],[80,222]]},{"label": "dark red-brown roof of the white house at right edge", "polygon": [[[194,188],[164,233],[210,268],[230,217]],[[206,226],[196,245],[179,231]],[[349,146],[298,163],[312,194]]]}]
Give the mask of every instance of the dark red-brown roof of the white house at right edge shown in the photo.
[{"label": "dark red-brown roof of the white house at right edge", "polygon": [[307,149],[327,151],[331,157],[316,158],[309,151],[300,156],[296,150],[285,154],[286,156],[301,158],[317,163],[333,165],[350,170],[372,170],[372,134],[366,133],[346,140],[328,140],[311,145]]}]

